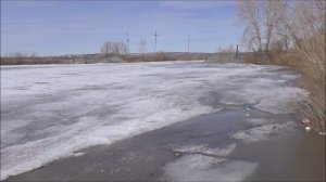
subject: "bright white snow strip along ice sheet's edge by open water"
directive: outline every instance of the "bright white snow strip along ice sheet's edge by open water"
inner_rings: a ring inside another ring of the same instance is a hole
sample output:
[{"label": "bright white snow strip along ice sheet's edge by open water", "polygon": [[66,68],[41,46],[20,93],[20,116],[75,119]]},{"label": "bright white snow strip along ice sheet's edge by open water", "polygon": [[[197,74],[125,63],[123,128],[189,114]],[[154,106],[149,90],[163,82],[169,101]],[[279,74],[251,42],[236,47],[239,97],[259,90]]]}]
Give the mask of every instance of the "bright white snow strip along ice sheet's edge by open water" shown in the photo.
[{"label": "bright white snow strip along ice sheet's edge by open water", "polygon": [[[178,108],[154,113],[142,119],[129,119],[120,123],[102,126],[93,118],[66,127],[57,136],[40,139],[1,150],[1,179],[45,166],[53,160],[75,156],[74,152],[99,144],[134,136],[159,129],[179,120],[210,113],[210,107],[198,107],[189,112]],[[5,156],[5,157],[4,157]]]}]

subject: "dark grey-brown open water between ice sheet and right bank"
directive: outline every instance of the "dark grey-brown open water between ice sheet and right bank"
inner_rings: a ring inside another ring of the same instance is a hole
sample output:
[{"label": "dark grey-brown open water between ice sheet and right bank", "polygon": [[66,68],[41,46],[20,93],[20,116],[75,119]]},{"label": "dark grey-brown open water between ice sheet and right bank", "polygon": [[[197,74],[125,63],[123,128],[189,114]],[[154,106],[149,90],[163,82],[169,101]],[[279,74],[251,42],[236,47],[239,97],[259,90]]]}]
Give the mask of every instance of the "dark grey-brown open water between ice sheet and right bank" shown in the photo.
[{"label": "dark grey-brown open water between ice sheet and right bank", "polygon": [[252,128],[246,119],[260,117],[280,122],[294,120],[288,114],[275,116],[256,110],[246,116],[242,109],[224,109],[113,145],[89,147],[79,151],[80,156],[60,159],[5,181],[173,181],[166,174],[166,164],[188,155],[174,147],[198,144],[220,147],[230,143],[237,147],[224,158],[259,164],[243,181],[325,180],[325,138],[305,132],[298,121],[289,132],[268,134],[266,140],[247,143],[230,138],[231,132]]}]

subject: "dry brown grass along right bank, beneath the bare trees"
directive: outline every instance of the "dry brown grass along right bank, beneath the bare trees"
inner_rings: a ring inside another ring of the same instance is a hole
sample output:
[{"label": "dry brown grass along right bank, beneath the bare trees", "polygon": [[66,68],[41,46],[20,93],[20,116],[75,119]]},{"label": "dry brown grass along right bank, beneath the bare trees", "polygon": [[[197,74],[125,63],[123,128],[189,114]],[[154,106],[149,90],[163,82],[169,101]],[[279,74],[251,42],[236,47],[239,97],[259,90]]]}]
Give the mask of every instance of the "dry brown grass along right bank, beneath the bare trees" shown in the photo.
[{"label": "dry brown grass along right bank, beneath the bare trees", "polygon": [[[287,66],[302,75],[297,86],[309,91],[309,98],[301,98],[296,105],[296,115],[300,120],[309,119],[311,127],[316,131],[326,131],[326,104],[325,104],[325,72],[316,68],[306,61],[300,51],[293,49],[288,52],[274,52],[269,55],[247,54],[247,63],[275,64]],[[324,69],[325,70],[325,69]]]}]

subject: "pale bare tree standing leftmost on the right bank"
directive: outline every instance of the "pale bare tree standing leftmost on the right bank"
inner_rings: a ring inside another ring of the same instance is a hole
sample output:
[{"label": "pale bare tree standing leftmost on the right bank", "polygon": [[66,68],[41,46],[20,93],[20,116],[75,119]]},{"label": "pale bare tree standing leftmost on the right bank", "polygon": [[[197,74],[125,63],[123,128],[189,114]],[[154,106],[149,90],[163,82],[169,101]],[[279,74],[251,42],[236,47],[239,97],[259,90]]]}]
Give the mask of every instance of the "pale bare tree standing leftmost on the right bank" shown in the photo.
[{"label": "pale bare tree standing leftmost on the right bank", "polygon": [[238,17],[244,25],[242,43],[248,50],[268,53],[271,43],[276,42],[276,31],[285,6],[286,1],[279,0],[239,1]]}]

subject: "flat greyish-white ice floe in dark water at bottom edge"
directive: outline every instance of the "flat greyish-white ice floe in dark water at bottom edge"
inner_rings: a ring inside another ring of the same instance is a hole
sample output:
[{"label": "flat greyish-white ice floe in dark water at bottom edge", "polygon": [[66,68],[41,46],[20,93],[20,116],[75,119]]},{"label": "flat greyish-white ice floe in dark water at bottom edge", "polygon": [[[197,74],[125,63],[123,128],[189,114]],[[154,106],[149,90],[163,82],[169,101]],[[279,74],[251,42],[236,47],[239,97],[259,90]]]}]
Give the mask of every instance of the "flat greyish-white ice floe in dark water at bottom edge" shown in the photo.
[{"label": "flat greyish-white ice floe in dark water at bottom edge", "polygon": [[185,155],[164,166],[164,180],[170,181],[242,181],[259,165],[198,154]]}]

